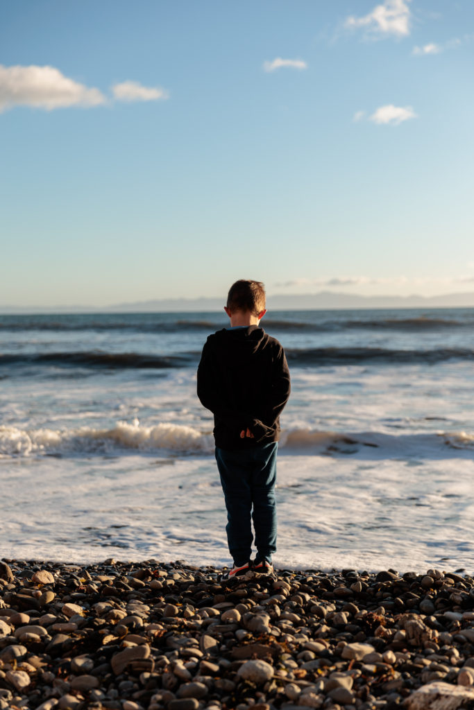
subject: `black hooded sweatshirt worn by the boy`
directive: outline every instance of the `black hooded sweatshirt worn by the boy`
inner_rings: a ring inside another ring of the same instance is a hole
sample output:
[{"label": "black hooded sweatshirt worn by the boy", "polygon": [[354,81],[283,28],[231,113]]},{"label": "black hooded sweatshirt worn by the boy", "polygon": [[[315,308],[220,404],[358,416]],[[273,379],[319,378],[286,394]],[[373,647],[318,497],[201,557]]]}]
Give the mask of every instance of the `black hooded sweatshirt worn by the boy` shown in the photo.
[{"label": "black hooded sweatshirt worn by the boy", "polygon": [[[198,367],[198,397],[214,415],[215,445],[230,451],[276,442],[290,395],[281,344],[257,325],[208,337]],[[240,432],[254,438],[240,438]]]}]

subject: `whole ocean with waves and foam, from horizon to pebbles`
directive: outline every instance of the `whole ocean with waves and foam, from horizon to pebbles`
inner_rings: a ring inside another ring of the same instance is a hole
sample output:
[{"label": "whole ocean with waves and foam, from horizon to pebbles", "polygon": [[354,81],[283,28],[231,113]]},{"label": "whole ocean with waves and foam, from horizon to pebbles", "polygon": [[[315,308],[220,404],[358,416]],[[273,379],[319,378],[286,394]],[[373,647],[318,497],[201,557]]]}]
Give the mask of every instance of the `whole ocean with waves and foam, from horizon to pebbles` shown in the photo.
[{"label": "whole ocean with waves and foam, from horizon to pebbles", "polygon": [[[228,564],[200,351],[225,314],[0,316],[0,557]],[[474,310],[269,312],[276,567],[474,573]]]}]

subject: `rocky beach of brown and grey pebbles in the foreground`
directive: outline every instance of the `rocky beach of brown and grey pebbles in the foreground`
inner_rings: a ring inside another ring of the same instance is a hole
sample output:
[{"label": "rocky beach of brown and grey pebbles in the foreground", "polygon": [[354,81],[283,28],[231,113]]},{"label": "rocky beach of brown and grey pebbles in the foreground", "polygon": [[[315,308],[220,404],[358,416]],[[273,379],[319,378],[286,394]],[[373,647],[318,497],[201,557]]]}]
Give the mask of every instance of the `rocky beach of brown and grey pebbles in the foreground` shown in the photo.
[{"label": "rocky beach of brown and grey pebbles in the foreground", "polygon": [[0,563],[0,709],[474,708],[464,574]]}]

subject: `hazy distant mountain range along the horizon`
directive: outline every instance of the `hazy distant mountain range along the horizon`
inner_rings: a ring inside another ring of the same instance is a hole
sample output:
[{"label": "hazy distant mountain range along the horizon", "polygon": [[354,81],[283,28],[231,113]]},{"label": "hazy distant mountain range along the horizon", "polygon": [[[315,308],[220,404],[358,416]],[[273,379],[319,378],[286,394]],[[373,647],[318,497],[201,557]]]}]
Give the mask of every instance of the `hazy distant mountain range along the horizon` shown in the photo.
[{"label": "hazy distant mountain range along the horizon", "polygon": [[[474,293],[446,293],[439,296],[359,296],[353,293],[275,294],[267,295],[267,305],[272,310],[352,309],[352,308],[474,308]],[[111,306],[0,306],[0,314],[15,313],[123,313],[163,311],[215,311],[221,310],[225,298],[168,298],[150,301],[118,303]]]}]

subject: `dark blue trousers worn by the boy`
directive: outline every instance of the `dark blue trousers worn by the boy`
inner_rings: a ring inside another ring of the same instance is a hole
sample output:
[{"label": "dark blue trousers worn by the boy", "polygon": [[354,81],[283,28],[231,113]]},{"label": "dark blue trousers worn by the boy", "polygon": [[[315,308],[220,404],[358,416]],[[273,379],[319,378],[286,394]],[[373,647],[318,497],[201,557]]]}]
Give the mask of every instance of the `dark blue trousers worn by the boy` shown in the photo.
[{"label": "dark blue trousers worn by the boy", "polygon": [[[276,450],[277,442],[244,451],[215,449],[227,508],[227,542],[237,567],[252,554],[254,520],[257,562],[276,552]],[[253,508],[253,510],[252,510]]]}]

